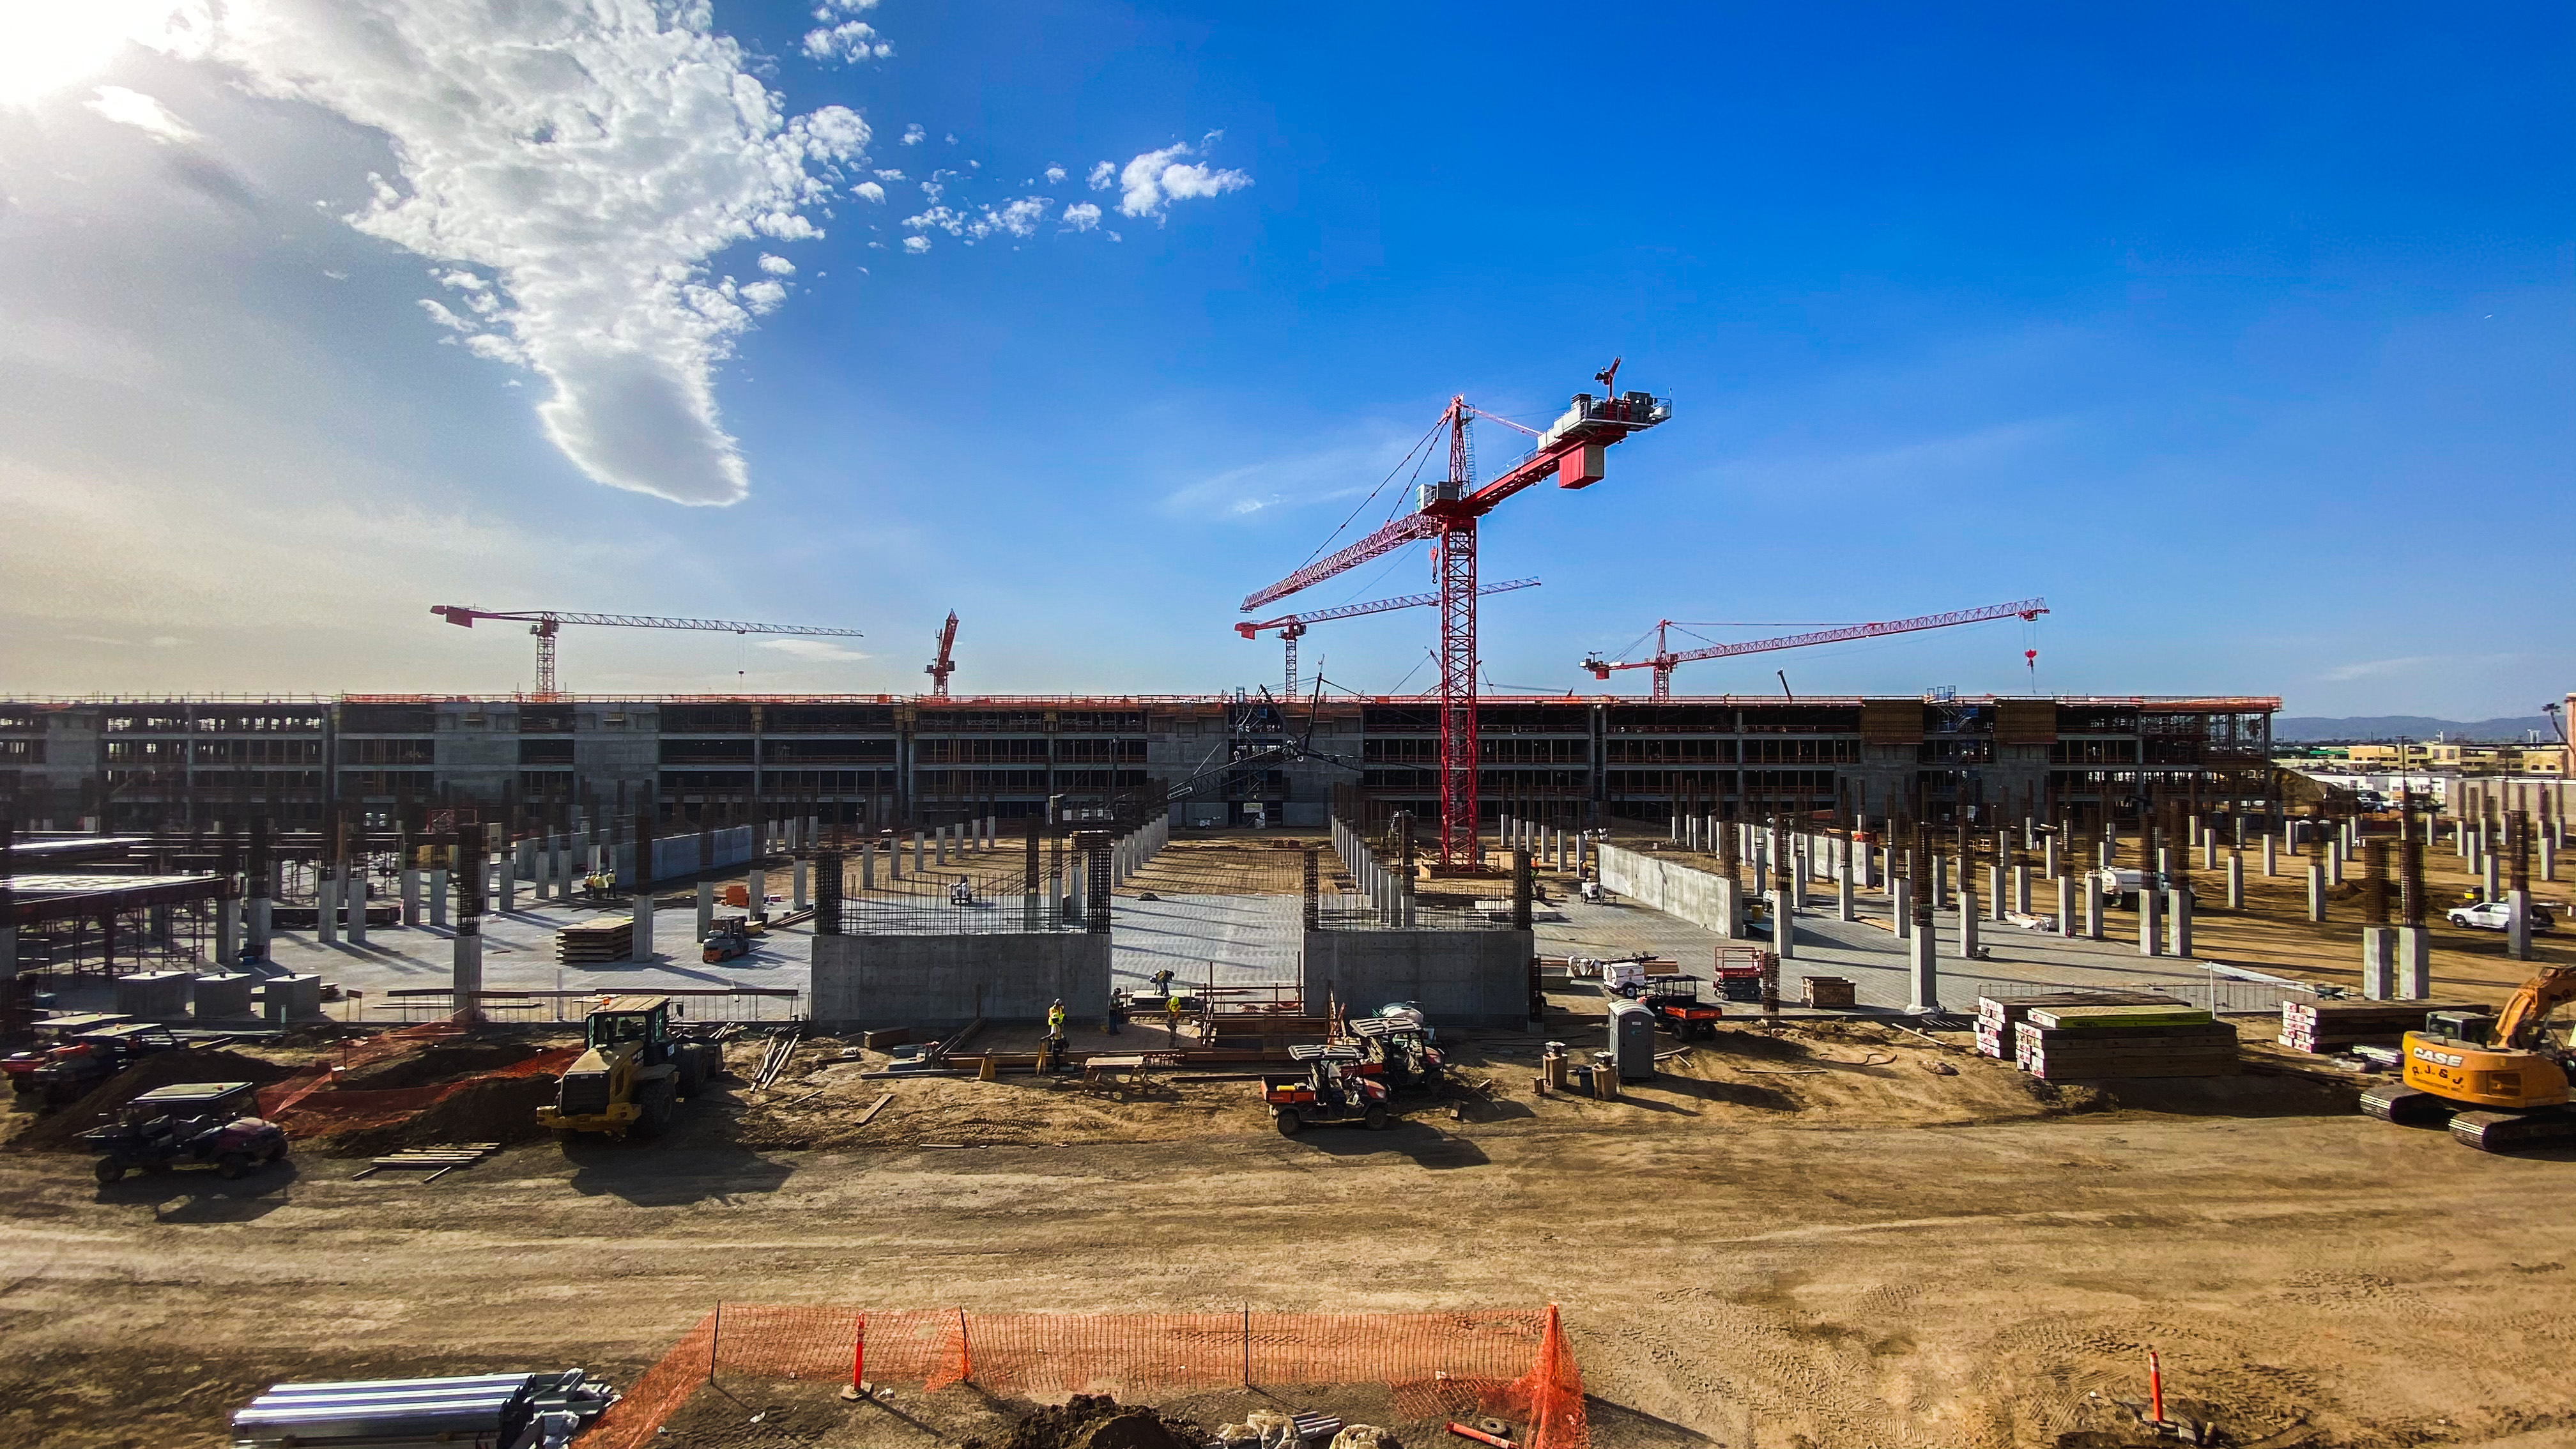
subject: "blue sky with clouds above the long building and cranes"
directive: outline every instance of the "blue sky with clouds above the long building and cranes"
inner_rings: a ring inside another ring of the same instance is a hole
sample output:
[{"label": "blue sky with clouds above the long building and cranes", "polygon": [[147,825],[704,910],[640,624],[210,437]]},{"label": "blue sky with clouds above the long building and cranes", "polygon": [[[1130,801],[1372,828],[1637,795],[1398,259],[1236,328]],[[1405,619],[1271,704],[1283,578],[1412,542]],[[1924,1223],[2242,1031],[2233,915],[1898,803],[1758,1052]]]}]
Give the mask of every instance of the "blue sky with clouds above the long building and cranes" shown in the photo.
[{"label": "blue sky with clouds above the long building and cranes", "polygon": [[[2025,596],[1677,688],[2576,681],[2561,5],[167,10],[0,10],[21,691],[523,686],[448,601],[868,632],[572,634],[585,691],[914,691],[948,608],[958,691],[1267,683],[1234,603],[1453,392],[1540,423],[1613,356],[1674,420],[1486,523],[1546,580],[1497,686]],[[1303,652],[1414,691],[1430,642]]]}]

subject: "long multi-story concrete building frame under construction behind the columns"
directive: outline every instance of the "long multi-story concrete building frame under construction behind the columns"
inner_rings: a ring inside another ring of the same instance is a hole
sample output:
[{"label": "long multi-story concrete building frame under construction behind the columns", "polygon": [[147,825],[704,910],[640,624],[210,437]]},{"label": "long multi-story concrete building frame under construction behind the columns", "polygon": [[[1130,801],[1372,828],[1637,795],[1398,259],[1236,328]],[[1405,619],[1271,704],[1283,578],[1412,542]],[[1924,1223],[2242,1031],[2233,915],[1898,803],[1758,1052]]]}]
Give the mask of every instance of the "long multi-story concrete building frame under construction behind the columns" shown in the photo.
[{"label": "long multi-story concrete building frame under construction behind the columns", "polygon": [[[1950,820],[2143,792],[2275,799],[2277,699],[1486,699],[1481,797],[1551,825],[1672,812],[1852,810]],[[1265,753],[1267,750],[1267,753]],[[1252,755],[1247,768],[1229,761]],[[670,822],[850,825],[1170,802],[1177,825],[1321,825],[1435,802],[1437,712],[1337,699],[162,699],[0,704],[0,802],[23,825],[196,828],[410,807]]]}]

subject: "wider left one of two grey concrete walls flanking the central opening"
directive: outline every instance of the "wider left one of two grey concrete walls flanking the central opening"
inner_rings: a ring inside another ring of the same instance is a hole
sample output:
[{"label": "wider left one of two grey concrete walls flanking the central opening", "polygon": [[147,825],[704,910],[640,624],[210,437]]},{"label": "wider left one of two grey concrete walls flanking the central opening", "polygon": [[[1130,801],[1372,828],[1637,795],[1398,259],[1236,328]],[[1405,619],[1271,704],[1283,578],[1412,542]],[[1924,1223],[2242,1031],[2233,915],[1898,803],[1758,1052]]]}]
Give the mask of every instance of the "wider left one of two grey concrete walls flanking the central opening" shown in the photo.
[{"label": "wider left one of two grey concrete walls flanking the central opening", "polygon": [[1077,1021],[1110,1011],[1110,938],[1087,931],[992,936],[814,936],[814,1021],[933,1026]]}]

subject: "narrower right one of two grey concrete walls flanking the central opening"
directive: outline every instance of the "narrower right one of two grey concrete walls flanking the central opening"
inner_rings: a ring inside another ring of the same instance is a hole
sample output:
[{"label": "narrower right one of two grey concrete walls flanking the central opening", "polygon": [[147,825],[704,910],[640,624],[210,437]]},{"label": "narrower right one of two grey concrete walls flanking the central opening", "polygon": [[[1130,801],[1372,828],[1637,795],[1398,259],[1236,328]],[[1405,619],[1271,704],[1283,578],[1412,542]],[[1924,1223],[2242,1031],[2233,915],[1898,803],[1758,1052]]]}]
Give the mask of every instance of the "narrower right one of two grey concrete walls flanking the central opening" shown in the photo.
[{"label": "narrower right one of two grey concrete walls flanking the central opening", "polygon": [[1352,1016],[1419,1000],[1435,1026],[1520,1026],[1530,1018],[1528,931],[1309,931],[1309,1011],[1327,993]]}]

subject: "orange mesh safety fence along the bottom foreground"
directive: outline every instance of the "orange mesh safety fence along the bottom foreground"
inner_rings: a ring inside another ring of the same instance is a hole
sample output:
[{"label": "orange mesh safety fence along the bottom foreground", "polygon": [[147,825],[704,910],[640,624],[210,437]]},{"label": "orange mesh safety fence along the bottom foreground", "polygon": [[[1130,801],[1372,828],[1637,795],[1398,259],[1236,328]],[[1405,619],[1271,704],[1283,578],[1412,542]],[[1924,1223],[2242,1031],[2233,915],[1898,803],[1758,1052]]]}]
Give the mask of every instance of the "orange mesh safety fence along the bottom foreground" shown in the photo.
[{"label": "orange mesh safety fence along the bottom foreground", "polygon": [[992,1395],[1157,1395],[1383,1382],[1417,1418],[1507,1413],[1528,1449],[1589,1449],[1556,1307],[1499,1312],[963,1312],[721,1305],[580,1439],[641,1449],[698,1385],[971,1382]]}]

